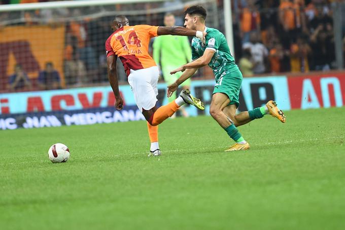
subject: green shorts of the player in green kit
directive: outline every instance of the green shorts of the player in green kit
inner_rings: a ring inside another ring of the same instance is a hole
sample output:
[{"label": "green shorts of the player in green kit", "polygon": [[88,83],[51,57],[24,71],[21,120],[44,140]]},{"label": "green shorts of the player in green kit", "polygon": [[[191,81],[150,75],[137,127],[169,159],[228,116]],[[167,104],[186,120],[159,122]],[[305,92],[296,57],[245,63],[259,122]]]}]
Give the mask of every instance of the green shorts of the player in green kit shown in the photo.
[{"label": "green shorts of the player in green kit", "polygon": [[221,92],[226,94],[229,99],[229,105],[239,106],[239,90],[241,89],[243,76],[239,70],[235,70],[231,73],[226,73],[223,77],[220,77],[216,82],[213,94]]}]

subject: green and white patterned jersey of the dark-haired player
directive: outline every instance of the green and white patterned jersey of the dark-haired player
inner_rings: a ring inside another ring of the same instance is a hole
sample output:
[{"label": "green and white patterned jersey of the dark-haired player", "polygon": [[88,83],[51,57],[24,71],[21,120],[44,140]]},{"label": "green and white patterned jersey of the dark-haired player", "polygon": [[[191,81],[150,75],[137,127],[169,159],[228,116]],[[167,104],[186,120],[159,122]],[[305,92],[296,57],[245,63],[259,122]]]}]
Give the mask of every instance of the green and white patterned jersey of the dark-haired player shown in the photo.
[{"label": "green and white patterned jersey of the dark-haired player", "polygon": [[205,44],[196,37],[192,40],[192,59],[195,60],[201,57],[205,49],[214,50],[215,54],[209,63],[209,67],[213,70],[215,80],[218,82],[225,74],[238,70],[238,67],[230,53],[225,36],[218,29],[205,27],[205,31],[207,32]]}]

